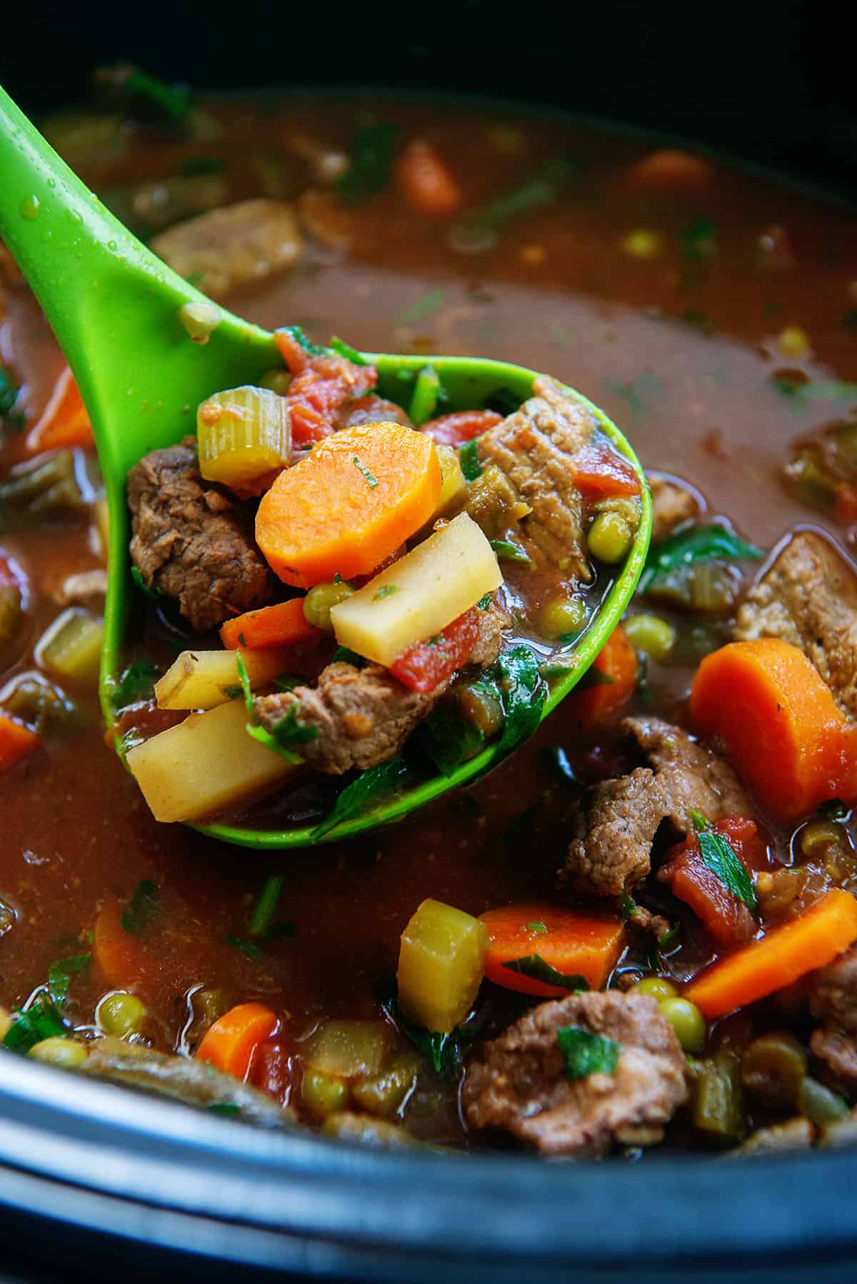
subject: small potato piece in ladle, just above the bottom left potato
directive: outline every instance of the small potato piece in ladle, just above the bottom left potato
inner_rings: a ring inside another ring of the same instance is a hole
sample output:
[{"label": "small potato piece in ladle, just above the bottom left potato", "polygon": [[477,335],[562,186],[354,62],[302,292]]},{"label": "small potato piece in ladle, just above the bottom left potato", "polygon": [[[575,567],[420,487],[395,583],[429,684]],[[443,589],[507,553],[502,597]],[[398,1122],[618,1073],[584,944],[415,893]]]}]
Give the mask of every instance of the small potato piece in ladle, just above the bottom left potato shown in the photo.
[{"label": "small potato piece in ladle, just above the bottom left potato", "polygon": [[[182,651],[154,684],[158,709],[213,709],[238,696],[238,651]],[[283,647],[242,651],[247,677],[256,691],[289,666]]]}]

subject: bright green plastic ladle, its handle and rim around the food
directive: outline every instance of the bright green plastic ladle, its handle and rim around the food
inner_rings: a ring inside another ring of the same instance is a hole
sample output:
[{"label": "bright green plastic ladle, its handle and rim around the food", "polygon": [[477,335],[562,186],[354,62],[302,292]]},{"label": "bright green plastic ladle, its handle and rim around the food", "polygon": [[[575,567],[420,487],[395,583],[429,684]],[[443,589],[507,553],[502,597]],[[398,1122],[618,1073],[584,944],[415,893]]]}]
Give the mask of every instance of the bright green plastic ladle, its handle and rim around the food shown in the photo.
[{"label": "bright green plastic ladle, its handle and rim around the food", "polygon": [[[125,479],[146,452],[172,446],[195,428],[195,407],[222,388],[252,384],[281,365],[272,335],[221,309],[207,344],[191,343],[179,320],[185,303],[208,300],[155,258],[104,208],[0,89],[0,238],[30,282],[80,385],[89,411],[109,507],[108,589],[104,607],[100,700],[113,718],[112,693],[122,666],[122,634],[134,586],[128,562]],[[423,357],[366,353],[378,367],[379,392],[401,398],[402,376]],[[473,357],[432,357],[451,408],[484,404],[500,389],[524,401],[535,372]],[[640,464],[618,428],[588,403],[604,433]],[[642,570],[651,529],[644,485],[642,521],[631,553],[590,627],[563,652],[568,672],[552,679],[542,716],[586,673],[621,619]],[[407,815],[424,802],[473,781],[500,760],[488,746],[452,776],[403,787],[320,841],[358,833]],[[299,847],[312,827],[252,829],[229,824],[204,833],[248,847]]]}]

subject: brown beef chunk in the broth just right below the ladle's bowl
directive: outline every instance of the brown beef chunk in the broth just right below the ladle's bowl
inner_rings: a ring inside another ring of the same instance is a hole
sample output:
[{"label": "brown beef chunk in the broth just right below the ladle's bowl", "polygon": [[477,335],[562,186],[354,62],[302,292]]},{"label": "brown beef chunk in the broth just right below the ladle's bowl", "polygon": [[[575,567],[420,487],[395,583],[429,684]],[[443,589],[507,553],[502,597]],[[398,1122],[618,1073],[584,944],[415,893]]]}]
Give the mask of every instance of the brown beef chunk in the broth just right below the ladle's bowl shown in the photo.
[{"label": "brown beef chunk in the broth just right below the ladle's bowl", "polygon": [[621,896],[646,877],[651,844],[663,820],[676,835],[691,828],[691,811],[709,820],[749,815],[738,776],[687,732],[659,718],[626,718],[622,728],[648,767],[587,790],[573,822],[560,887],[583,896]]}]

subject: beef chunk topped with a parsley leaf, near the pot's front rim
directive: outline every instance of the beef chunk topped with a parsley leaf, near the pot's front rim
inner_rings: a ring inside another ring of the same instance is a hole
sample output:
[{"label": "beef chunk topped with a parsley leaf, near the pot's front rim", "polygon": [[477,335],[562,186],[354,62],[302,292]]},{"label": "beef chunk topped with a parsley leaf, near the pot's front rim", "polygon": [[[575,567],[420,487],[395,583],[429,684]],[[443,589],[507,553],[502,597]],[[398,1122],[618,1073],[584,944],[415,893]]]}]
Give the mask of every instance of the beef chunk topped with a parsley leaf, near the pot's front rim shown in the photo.
[{"label": "beef chunk topped with a parsley leaf, near the pot's front rim", "polygon": [[[558,1030],[579,1026],[621,1045],[615,1071],[570,1080]],[[685,1055],[645,995],[572,994],[541,1003],[472,1062],[461,1100],[472,1129],[505,1129],[543,1154],[604,1154],[659,1140],[687,1098]]]}]

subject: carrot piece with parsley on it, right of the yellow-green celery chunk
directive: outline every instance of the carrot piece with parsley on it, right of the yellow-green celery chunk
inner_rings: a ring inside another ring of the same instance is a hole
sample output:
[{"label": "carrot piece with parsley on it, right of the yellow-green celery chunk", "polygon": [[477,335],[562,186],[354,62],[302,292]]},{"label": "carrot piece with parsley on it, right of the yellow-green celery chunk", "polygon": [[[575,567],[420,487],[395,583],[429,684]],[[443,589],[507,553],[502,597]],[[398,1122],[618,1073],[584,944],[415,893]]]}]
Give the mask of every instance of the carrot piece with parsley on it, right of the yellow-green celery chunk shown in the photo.
[{"label": "carrot piece with parsley on it, right of the yellow-green celery chunk", "polygon": [[479,918],[488,930],[488,980],[506,990],[546,999],[559,999],[569,991],[505,964],[537,954],[549,967],[564,976],[582,976],[592,990],[599,990],[624,946],[624,923],[609,914],[527,901],[488,909]]}]

